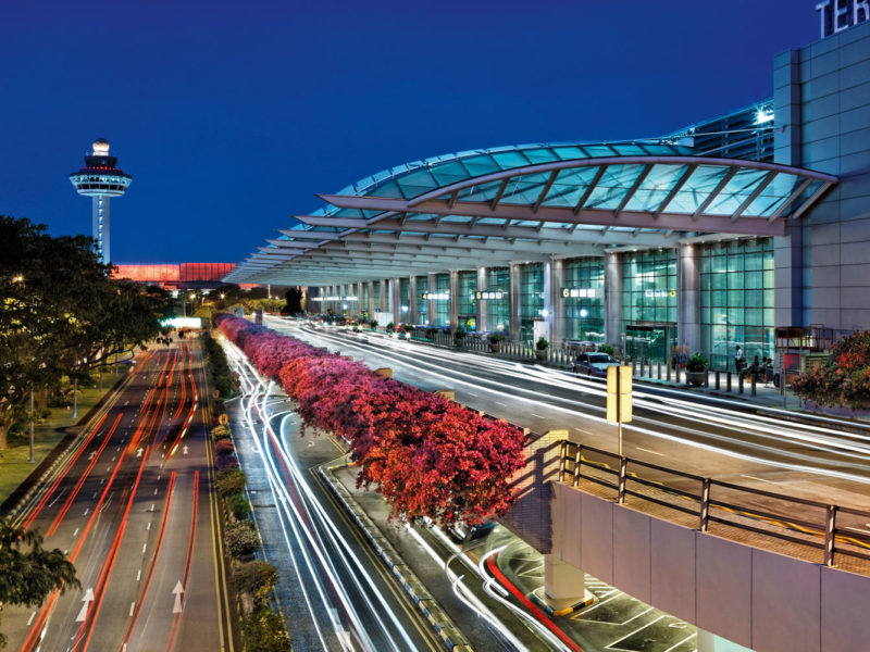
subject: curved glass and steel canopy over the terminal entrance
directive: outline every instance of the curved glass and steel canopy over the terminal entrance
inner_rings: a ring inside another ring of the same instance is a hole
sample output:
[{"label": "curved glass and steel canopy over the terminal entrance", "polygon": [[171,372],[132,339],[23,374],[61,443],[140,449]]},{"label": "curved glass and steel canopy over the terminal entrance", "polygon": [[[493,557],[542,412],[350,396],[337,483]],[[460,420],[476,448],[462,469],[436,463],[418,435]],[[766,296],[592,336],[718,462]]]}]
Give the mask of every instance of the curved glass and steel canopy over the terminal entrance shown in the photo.
[{"label": "curved glass and steel canopy over the terminal entrance", "polygon": [[533,145],[408,163],[295,215],[225,277],[335,285],[675,247],[708,234],[778,236],[837,178],[667,143]]}]

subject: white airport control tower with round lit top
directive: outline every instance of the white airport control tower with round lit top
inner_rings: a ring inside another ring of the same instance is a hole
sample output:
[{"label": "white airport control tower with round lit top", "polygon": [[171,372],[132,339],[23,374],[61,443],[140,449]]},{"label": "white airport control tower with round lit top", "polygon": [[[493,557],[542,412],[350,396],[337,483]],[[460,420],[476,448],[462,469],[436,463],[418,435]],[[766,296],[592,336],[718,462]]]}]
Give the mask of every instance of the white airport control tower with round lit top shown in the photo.
[{"label": "white airport control tower with round lit top", "polygon": [[109,141],[97,138],[94,151],[85,156],[85,166],[70,174],[70,180],[79,195],[90,197],[92,211],[94,238],[97,240],[100,259],[103,263],[111,261],[109,255],[109,200],[126,192],[133,177],[119,170],[117,156],[109,155]]}]

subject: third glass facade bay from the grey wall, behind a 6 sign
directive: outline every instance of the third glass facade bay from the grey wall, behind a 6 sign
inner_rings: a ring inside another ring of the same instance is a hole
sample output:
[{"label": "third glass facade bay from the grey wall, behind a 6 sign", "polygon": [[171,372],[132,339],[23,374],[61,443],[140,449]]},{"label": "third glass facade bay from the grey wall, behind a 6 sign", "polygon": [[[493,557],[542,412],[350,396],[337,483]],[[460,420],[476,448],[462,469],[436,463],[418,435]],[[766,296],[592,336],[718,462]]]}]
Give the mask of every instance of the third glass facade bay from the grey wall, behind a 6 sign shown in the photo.
[{"label": "third glass facade bay from the grey wall, behind a 6 sign", "polygon": [[[602,258],[570,259],[563,263],[560,288],[567,340],[605,341],[605,261]],[[567,296],[566,296],[567,294]]]}]

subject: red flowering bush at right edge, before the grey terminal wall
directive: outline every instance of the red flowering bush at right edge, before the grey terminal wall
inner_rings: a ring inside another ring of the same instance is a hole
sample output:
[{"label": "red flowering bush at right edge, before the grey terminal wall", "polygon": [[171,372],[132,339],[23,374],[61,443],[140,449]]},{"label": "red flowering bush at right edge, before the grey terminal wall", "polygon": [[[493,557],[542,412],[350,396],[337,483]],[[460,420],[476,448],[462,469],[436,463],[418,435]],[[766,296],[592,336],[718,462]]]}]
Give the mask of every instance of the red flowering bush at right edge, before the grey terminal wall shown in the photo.
[{"label": "red flowering bush at right edge, before the grey terminal wall", "polygon": [[792,384],[801,399],[820,405],[870,409],[870,330],[834,344],[831,359]]}]

